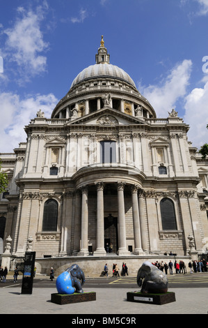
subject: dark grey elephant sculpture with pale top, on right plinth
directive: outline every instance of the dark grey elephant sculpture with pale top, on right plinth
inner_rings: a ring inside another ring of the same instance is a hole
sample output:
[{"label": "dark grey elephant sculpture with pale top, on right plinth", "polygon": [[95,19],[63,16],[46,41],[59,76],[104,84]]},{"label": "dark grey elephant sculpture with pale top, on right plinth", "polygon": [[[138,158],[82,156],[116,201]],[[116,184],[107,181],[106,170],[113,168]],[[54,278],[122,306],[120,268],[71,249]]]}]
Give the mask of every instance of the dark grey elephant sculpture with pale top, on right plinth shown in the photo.
[{"label": "dark grey elephant sculpture with pale top, on right plinth", "polygon": [[137,284],[143,293],[164,293],[168,291],[168,278],[163,271],[150,262],[144,262],[137,274]]}]

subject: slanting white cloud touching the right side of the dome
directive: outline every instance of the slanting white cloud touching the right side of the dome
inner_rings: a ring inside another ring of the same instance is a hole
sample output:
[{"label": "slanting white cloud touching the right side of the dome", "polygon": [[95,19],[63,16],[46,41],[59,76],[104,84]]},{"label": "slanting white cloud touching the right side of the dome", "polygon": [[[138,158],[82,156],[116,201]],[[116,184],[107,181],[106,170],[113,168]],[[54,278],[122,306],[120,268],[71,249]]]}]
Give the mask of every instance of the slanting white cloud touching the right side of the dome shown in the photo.
[{"label": "slanting white cloud touching the right side of the dome", "polygon": [[177,100],[186,95],[191,66],[191,60],[185,59],[181,64],[177,64],[170,74],[161,80],[159,85],[150,85],[149,87],[140,85],[138,87],[141,94],[154,107],[157,117],[168,117],[168,112],[175,108]]}]

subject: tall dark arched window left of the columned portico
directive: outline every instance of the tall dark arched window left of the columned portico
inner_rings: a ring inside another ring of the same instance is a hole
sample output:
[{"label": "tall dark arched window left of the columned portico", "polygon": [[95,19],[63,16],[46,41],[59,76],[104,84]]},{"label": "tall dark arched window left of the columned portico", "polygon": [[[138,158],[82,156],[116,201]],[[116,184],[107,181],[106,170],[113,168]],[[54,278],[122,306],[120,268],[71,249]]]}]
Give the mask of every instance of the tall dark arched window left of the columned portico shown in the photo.
[{"label": "tall dark arched window left of the columned portico", "polygon": [[44,205],[42,231],[56,231],[58,219],[58,202],[47,200]]}]

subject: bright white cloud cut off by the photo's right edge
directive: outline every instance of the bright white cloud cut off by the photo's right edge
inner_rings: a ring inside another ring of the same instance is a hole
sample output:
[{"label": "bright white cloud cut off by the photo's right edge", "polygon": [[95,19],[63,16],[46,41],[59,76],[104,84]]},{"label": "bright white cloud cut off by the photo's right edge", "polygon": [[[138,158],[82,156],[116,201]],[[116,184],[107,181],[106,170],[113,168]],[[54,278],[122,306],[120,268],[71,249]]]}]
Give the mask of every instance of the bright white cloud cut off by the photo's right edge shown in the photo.
[{"label": "bright white cloud cut off by the photo's right edge", "polygon": [[189,124],[189,140],[200,148],[208,142],[208,82],[203,88],[195,88],[185,98],[184,122]]}]

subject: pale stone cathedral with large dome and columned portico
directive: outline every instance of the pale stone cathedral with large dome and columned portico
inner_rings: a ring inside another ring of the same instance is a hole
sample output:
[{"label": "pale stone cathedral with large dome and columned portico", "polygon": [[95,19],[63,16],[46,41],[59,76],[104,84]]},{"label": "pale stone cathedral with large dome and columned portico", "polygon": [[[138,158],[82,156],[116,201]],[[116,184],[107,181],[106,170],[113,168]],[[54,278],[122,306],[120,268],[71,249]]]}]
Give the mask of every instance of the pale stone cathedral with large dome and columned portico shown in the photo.
[{"label": "pale stone cathedral with large dome and columned portico", "polygon": [[27,141],[0,154],[9,177],[1,253],[206,254],[208,161],[188,131],[175,110],[157,118],[131,77],[110,64],[102,37],[95,64],[74,78],[51,118],[37,109]]}]

